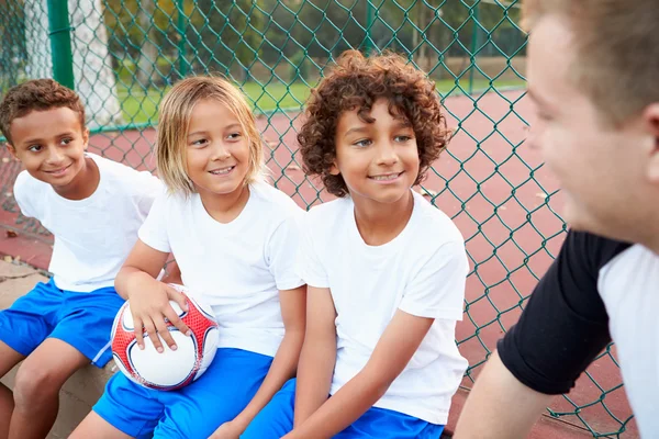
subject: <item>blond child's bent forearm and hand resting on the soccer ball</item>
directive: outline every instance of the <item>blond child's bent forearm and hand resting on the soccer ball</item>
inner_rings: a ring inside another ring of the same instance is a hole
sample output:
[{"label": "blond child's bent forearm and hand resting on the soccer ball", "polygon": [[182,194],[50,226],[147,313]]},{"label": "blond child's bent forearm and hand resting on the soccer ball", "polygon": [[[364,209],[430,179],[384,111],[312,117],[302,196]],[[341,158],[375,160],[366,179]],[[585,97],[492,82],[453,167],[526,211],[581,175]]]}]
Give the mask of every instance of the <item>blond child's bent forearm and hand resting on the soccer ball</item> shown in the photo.
[{"label": "blond child's bent forearm and hand resting on the soccer ball", "polygon": [[158,335],[171,349],[176,349],[174,338],[167,330],[165,318],[183,334],[188,334],[190,330],[169,304],[169,301],[172,300],[179,304],[181,309],[187,309],[186,297],[171,286],[155,279],[165,266],[168,256],[169,254],[158,251],[138,239],[114,280],[116,292],[131,302],[137,345],[144,348],[143,334],[146,330],[159,352],[163,351],[163,345]]}]

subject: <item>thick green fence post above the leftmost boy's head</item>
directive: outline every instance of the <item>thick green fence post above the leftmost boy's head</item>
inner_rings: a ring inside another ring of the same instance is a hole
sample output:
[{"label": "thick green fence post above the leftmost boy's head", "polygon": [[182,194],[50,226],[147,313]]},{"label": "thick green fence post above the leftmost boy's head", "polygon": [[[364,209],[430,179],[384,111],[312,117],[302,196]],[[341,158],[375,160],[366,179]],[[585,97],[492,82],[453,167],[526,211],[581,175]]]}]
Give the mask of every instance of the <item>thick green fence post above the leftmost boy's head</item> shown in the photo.
[{"label": "thick green fence post above the leftmost boy's head", "polygon": [[47,4],[53,78],[63,86],[75,90],[71,24],[68,16],[67,0],[48,0]]}]

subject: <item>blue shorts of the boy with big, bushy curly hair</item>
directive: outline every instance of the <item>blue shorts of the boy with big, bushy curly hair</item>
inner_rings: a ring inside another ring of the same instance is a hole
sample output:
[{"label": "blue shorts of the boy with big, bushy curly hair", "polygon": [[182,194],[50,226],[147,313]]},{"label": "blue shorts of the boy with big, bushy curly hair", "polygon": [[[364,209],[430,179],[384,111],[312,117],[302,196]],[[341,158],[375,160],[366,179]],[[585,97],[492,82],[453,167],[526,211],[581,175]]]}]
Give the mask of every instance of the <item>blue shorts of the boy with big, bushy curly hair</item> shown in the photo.
[{"label": "blue shorts of the boy with big, bushy curly hair", "polygon": [[[295,379],[289,380],[254,418],[241,439],[279,439],[293,429]],[[439,439],[444,426],[371,407],[335,439]]]}]

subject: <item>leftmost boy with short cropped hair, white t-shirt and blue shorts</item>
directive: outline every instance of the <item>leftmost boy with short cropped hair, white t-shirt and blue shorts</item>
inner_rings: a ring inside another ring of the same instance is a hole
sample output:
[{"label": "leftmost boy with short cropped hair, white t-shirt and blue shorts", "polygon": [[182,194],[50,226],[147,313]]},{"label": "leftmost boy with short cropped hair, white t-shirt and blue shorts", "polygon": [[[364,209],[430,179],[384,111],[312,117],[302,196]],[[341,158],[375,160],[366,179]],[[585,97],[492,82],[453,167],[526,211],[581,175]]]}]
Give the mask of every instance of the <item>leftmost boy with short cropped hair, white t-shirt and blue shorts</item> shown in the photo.
[{"label": "leftmost boy with short cropped hair, white t-shirt and blue shorts", "polygon": [[55,236],[53,279],[0,311],[0,376],[24,360],[13,394],[0,384],[0,439],[45,438],[65,381],[112,358],[110,331],[124,303],[114,277],[163,187],[87,153],[80,98],[52,79],[8,91],[0,131],[25,168],[14,184],[21,212]]}]

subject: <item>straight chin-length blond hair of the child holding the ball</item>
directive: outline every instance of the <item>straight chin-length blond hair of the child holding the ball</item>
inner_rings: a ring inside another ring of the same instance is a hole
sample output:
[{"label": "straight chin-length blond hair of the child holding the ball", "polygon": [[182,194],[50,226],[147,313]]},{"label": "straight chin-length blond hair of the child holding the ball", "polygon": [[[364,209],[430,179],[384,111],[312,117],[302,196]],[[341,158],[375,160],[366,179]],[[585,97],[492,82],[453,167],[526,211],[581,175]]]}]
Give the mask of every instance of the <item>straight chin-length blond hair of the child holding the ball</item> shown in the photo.
[{"label": "straight chin-length blond hair of the child holding the ball", "polygon": [[160,102],[156,161],[158,176],[170,192],[197,192],[188,177],[187,138],[192,110],[206,99],[225,105],[245,132],[249,142],[245,184],[260,180],[265,173],[263,139],[243,93],[223,78],[191,77],[177,82]]}]

